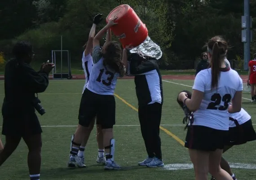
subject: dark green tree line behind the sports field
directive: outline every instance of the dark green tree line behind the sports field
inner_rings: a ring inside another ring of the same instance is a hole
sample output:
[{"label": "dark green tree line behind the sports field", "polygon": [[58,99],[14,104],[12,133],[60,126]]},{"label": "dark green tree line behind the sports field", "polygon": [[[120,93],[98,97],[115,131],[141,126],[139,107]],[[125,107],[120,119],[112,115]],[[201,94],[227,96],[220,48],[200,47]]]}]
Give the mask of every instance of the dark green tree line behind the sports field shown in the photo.
[{"label": "dark green tree line behind the sports field", "polygon": [[[193,68],[207,39],[215,35],[228,40],[228,59],[243,61],[243,0],[5,0],[0,6],[0,52],[9,59],[13,43],[29,40],[41,63],[51,58],[51,50],[60,50],[62,35],[71,64],[79,64],[94,15],[106,17],[119,4],[129,4],[146,24],[150,38],[163,51],[163,69]],[[250,8],[254,20],[256,0],[250,1]],[[256,52],[255,40],[251,52]]]}]

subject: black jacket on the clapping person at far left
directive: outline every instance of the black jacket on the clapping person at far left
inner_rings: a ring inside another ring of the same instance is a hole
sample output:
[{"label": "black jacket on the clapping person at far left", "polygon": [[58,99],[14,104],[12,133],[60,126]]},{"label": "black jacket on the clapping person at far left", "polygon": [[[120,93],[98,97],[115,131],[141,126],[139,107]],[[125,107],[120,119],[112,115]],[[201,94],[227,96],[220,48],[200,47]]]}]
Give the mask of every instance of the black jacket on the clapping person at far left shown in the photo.
[{"label": "black jacket on the clapping person at far left", "polygon": [[18,63],[16,59],[10,60],[4,70],[3,117],[34,112],[32,100],[35,93],[44,92],[48,87],[48,76],[46,72],[36,72],[27,63]]}]

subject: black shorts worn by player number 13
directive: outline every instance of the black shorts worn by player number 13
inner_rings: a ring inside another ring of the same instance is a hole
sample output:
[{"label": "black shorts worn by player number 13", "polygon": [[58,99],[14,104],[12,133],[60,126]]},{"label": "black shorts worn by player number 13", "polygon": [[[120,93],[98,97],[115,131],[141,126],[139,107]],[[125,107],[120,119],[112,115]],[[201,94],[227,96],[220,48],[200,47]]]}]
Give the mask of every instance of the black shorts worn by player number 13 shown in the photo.
[{"label": "black shorts worn by player number 13", "polygon": [[88,127],[97,116],[97,124],[102,129],[113,128],[115,125],[115,97],[113,95],[100,95],[84,90],[79,107],[79,125]]}]

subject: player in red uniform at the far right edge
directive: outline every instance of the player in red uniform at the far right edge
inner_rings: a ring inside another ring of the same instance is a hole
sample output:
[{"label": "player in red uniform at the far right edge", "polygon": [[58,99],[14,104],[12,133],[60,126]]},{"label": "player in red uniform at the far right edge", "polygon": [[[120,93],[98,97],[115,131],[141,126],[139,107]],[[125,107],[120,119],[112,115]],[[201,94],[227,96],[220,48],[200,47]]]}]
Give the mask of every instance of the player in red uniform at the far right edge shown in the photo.
[{"label": "player in red uniform at the far right edge", "polygon": [[249,62],[248,65],[248,80],[251,84],[251,96],[252,102],[256,101],[256,54],[254,54],[253,59]]}]

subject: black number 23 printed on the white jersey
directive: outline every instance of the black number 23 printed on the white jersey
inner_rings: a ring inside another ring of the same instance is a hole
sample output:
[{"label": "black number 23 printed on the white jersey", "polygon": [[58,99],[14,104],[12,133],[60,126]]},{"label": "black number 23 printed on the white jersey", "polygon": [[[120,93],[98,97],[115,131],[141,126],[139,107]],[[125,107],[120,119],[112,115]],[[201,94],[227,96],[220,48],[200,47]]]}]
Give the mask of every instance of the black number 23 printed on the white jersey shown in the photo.
[{"label": "black number 23 printed on the white jersey", "polygon": [[[212,95],[211,100],[213,102],[209,103],[209,105],[207,106],[207,109],[215,109],[215,110],[221,110],[221,111],[225,111],[226,109],[228,109],[229,107],[229,102],[231,100],[231,95],[230,94],[225,94],[223,97],[221,97],[220,94],[215,93]],[[224,102],[224,106],[220,106],[219,108],[217,108],[217,105],[221,104],[221,101]]]}]

